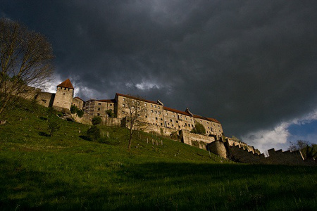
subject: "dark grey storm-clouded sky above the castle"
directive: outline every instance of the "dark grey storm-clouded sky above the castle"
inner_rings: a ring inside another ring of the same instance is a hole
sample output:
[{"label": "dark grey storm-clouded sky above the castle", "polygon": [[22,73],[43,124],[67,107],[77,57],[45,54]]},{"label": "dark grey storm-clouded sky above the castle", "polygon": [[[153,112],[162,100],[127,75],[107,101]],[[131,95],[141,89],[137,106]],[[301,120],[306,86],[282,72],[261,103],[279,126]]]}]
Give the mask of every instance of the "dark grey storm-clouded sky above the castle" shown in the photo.
[{"label": "dark grey storm-clouded sky above the castle", "polygon": [[317,143],[317,1],[15,1],[48,37],[56,83],[214,117],[261,151]]}]

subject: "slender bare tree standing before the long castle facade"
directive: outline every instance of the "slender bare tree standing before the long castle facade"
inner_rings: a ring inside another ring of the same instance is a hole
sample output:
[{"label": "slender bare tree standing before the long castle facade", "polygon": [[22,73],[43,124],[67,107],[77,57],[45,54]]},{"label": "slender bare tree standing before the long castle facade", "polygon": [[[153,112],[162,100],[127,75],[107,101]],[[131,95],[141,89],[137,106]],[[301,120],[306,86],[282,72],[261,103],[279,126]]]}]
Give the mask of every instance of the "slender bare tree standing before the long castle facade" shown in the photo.
[{"label": "slender bare tree standing before the long castle facade", "polygon": [[135,130],[142,130],[147,127],[147,123],[144,121],[147,108],[144,106],[144,101],[140,100],[139,97],[125,98],[125,103],[126,125],[130,132],[128,145],[130,151]]}]

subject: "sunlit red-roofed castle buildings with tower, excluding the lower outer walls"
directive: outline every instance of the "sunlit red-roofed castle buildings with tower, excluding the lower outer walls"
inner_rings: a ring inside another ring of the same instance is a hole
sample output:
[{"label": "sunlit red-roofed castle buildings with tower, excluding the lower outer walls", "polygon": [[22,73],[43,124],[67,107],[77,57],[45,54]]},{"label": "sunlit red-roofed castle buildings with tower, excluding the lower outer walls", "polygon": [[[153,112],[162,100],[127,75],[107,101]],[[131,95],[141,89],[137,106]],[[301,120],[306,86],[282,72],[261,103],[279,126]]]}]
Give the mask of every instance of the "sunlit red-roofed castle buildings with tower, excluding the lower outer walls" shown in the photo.
[{"label": "sunlit red-roofed castle buildings with tower, excluding the lower outer walls", "polygon": [[37,101],[46,107],[53,107],[56,110],[69,111],[70,106],[77,106],[91,116],[108,117],[109,111],[120,120],[129,113],[128,102],[141,102],[146,113],[142,116],[142,122],[151,124],[154,127],[163,127],[175,131],[194,129],[195,122],[204,125],[207,136],[214,136],[216,139],[223,135],[223,127],[220,122],[213,118],[195,115],[187,108],[185,111],[176,110],[163,105],[161,101],[148,101],[147,99],[116,93],[113,99],[83,101],[79,97],[74,98],[74,87],[70,79],[66,79],[56,87],[56,94],[39,92]]}]

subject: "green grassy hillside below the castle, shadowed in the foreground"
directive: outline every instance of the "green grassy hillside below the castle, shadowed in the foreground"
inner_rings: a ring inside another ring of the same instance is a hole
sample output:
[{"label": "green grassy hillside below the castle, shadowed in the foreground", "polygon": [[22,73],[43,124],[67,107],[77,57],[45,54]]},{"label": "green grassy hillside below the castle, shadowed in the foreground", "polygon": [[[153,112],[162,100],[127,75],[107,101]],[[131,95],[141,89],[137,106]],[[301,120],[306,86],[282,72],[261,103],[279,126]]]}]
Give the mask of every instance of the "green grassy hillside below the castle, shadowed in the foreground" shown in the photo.
[{"label": "green grassy hillside below the castle, shadowed in the foreground", "polygon": [[0,210],[317,210],[316,167],[237,164],[143,132],[129,152],[126,129],[87,141],[89,126],[25,101],[6,119]]}]

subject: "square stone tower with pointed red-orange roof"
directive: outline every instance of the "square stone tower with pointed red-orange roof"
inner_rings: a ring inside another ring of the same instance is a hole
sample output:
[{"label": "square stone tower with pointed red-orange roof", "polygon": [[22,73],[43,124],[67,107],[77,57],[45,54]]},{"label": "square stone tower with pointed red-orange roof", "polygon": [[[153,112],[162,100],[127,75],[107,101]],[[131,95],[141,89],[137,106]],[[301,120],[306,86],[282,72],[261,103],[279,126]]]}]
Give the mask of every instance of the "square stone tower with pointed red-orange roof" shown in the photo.
[{"label": "square stone tower with pointed red-orange roof", "polygon": [[70,106],[73,102],[74,87],[70,82],[70,79],[57,85],[56,95],[54,98],[53,108],[56,110],[70,110]]}]

